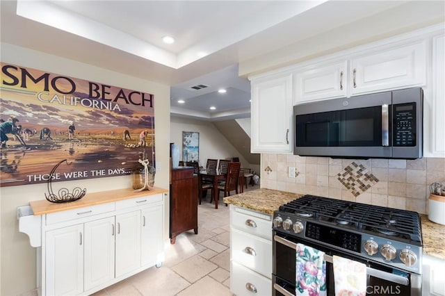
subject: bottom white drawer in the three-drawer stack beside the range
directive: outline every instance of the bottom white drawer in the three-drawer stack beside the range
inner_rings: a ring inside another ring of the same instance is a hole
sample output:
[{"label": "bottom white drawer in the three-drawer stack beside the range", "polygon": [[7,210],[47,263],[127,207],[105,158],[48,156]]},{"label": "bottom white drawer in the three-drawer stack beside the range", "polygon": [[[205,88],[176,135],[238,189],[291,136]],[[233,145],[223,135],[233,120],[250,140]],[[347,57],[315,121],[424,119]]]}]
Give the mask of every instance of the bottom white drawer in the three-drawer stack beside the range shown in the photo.
[{"label": "bottom white drawer in the three-drawer stack beside the range", "polygon": [[[232,261],[230,291],[234,295],[271,295],[272,281]],[[254,292],[256,290],[256,292]]]}]

